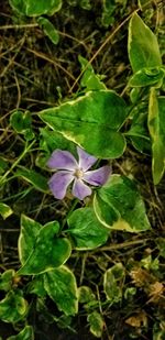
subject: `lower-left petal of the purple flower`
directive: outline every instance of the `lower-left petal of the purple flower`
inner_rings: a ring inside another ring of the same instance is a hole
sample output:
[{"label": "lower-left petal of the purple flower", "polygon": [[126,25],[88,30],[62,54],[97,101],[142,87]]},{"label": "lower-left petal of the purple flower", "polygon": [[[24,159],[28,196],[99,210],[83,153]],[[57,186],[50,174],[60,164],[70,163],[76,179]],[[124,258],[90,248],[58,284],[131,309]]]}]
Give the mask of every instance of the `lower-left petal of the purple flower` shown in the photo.
[{"label": "lower-left petal of the purple flower", "polygon": [[74,180],[73,173],[59,171],[48,180],[48,186],[54,197],[63,199],[66,195],[68,185]]}]

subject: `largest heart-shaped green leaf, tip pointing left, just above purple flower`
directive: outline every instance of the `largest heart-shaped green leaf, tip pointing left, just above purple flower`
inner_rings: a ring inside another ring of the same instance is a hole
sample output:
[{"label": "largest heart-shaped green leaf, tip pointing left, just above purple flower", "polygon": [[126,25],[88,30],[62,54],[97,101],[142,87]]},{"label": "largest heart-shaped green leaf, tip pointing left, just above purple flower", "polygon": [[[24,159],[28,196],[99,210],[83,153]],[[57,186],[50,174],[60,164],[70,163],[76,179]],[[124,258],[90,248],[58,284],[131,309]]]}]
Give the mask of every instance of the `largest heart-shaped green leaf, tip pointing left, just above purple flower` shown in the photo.
[{"label": "largest heart-shaped green leaf, tip pointing left, just above purple flower", "polygon": [[125,140],[119,129],[128,113],[123,99],[113,91],[90,91],[38,114],[53,130],[90,154],[116,158],[124,152]]}]

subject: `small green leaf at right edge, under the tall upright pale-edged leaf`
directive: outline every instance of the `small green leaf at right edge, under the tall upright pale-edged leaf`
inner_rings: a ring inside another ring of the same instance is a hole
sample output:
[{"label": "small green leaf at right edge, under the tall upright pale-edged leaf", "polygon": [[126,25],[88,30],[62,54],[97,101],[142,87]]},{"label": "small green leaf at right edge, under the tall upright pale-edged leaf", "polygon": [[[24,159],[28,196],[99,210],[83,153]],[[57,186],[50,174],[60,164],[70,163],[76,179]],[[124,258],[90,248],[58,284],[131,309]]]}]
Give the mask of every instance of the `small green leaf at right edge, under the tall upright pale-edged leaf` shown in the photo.
[{"label": "small green leaf at right edge, under the tall upright pale-edged leaf", "polygon": [[164,78],[164,70],[160,67],[150,67],[138,70],[129,80],[129,86],[131,87],[145,87],[152,86],[162,81]]}]

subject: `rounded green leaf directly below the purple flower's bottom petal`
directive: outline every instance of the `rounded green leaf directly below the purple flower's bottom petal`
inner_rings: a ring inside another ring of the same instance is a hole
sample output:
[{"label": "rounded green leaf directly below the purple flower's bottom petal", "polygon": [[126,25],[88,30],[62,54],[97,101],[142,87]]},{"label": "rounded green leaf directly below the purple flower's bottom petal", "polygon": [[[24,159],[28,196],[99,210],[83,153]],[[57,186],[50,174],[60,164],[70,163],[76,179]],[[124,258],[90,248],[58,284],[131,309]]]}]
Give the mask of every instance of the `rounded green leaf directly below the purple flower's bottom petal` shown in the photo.
[{"label": "rounded green leaf directly below the purple flower's bottom petal", "polygon": [[75,210],[68,218],[68,232],[78,250],[98,248],[109,237],[109,231],[102,228],[92,208]]}]

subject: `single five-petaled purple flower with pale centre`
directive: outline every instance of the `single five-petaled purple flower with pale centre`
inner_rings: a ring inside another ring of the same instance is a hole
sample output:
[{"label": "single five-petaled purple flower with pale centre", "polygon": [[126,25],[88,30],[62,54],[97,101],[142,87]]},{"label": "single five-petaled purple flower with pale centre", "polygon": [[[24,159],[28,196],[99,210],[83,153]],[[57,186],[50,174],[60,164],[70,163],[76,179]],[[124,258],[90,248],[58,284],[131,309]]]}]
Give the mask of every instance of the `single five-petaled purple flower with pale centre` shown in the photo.
[{"label": "single five-petaled purple flower with pale centre", "polygon": [[78,199],[84,199],[91,195],[91,188],[86,183],[92,186],[101,186],[110,175],[109,165],[88,172],[97,158],[78,146],[77,153],[78,162],[70,152],[57,149],[47,162],[50,168],[57,169],[48,182],[50,189],[57,199],[65,197],[70,183],[73,183],[73,195]]}]

